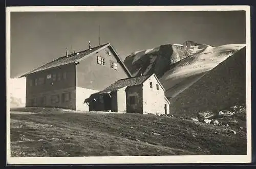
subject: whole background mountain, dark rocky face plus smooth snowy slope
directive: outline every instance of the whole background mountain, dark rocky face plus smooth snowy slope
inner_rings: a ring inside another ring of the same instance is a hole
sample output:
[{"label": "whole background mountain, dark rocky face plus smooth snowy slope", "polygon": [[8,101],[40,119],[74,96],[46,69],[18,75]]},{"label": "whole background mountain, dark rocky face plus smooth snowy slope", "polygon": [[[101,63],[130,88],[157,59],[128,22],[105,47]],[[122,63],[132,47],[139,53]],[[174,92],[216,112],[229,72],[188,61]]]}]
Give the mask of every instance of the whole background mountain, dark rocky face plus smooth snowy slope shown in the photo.
[{"label": "whole background mountain, dark rocky face plus smooth snowy slope", "polygon": [[245,44],[218,47],[186,41],[167,44],[127,56],[124,64],[133,76],[155,73],[166,89],[167,98],[174,98],[207,71],[236,53]]}]

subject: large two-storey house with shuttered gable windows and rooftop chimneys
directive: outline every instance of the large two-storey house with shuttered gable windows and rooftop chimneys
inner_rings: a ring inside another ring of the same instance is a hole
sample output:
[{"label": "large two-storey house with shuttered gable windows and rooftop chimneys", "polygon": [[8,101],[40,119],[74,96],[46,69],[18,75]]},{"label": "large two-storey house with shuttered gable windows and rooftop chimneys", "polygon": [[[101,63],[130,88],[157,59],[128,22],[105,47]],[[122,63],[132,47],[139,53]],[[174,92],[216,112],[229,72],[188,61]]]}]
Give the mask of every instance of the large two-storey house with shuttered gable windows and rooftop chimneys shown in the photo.
[{"label": "large two-storey house with shuttered gable windows and rooftop chimneys", "polygon": [[132,77],[108,43],[40,66],[26,77],[26,107],[89,111],[84,100],[113,82]]}]

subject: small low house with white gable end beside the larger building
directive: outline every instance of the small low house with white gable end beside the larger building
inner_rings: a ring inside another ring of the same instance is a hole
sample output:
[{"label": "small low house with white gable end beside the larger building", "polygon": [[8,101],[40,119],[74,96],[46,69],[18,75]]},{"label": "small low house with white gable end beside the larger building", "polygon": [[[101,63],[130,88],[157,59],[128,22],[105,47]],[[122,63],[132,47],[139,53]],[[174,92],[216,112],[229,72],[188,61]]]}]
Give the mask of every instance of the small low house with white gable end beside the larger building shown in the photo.
[{"label": "small low house with white gable end beside the larger building", "polygon": [[90,111],[169,114],[170,102],[155,74],[120,79],[86,100]]}]

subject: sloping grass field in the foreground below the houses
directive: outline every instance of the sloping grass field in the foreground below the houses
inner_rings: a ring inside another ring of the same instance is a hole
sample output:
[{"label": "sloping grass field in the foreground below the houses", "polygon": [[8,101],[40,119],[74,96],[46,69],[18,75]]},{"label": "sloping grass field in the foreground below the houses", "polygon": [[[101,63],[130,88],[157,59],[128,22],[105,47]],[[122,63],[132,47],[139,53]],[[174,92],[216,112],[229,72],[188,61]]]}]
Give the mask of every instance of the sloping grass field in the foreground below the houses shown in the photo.
[{"label": "sloping grass field in the foreground below the houses", "polygon": [[246,155],[246,131],[227,129],[156,115],[16,109],[11,156]]}]

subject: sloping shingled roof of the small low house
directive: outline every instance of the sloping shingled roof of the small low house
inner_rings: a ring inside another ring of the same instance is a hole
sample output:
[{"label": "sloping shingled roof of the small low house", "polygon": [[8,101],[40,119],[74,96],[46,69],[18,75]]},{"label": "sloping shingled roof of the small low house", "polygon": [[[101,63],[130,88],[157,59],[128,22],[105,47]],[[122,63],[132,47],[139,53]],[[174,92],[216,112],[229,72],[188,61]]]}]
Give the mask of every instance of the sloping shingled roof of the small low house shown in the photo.
[{"label": "sloping shingled roof of the small low house", "polygon": [[150,76],[151,75],[143,75],[143,76],[137,76],[137,77],[133,77],[133,78],[120,79],[98,93],[99,94],[107,93],[107,92],[118,90],[118,89],[126,87],[126,86],[140,85],[145,80],[147,80]]}]

